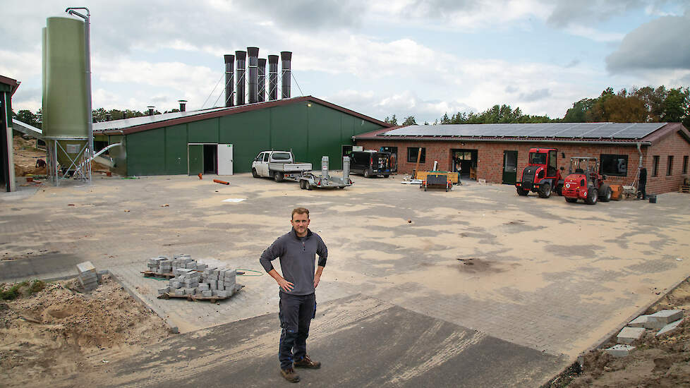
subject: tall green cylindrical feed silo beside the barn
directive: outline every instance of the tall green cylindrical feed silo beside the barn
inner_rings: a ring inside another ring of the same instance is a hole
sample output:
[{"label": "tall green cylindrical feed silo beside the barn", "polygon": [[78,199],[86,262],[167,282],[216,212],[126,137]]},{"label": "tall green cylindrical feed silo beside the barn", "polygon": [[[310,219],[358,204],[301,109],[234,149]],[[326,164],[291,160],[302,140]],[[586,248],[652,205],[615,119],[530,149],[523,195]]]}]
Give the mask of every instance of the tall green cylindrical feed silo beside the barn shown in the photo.
[{"label": "tall green cylindrical feed silo beside the barn", "polygon": [[68,169],[88,138],[84,22],[48,18],[43,61],[43,134],[59,143],[57,161]]}]

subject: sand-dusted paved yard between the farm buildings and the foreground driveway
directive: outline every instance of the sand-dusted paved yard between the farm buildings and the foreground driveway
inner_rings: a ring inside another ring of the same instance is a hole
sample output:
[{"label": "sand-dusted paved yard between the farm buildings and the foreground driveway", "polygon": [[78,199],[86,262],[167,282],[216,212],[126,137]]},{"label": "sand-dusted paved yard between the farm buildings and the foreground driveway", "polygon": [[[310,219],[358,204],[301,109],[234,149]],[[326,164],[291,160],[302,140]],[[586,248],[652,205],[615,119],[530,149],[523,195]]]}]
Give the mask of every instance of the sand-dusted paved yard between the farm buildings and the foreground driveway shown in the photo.
[{"label": "sand-dusted paved yard between the farm buildings and the foreground driveway", "polygon": [[[468,338],[459,333],[485,336],[431,365],[421,374],[424,378],[456,384],[453,379],[461,377],[454,373],[479,366],[466,358],[476,349],[491,354],[492,365],[502,365],[502,375],[531,376],[535,380],[523,386],[533,387],[533,382],[548,380],[550,368],[538,357],[533,357],[536,363],[518,363],[510,351],[491,351],[492,346],[543,354],[557,370],[617,334],[665,289],[690,274],[690,198],[682,193],[659,195],[655,204],[624,200],[585,205],[557,195],[519,197],[512,186],[473,182],[449,192],[424,192],[401,185],[401,176],[353,176],[355,184],[344,190],[300,190],[296,183],[250,174],[222,176],[231,183],[225,186],[212,183],[214,177],[95,178],[91,186],[69,182],[23,197],[0,195],[2,281],[76,274],[75,263],[90,261],[99,270],[109,269],[178,325],[183,337],[174,341],[220,335],[217,331],[227,325],[259,325],[267,319],[261,335],[270,341],[260,356],[250,356],[253,361],[243,356],[231,367],[247,368],[236,375],[247,379],[242,381],[263,384],[265,376],[277,372],[279,327],[277,322],[268,325],[275,319],[265,317],[277,312],[278,288],[272,278],[238,277],[245,288],[212,305],[156,299],[161,281],[144,278],[139,271],[149,257],[188,253],[194,260],[214,259],[262,273],[258,257],[289,231],[291,209],[304,206],[310,210],[310,229],[329,250],[317,289],[320,307],[335,308],[334,303],[355,296],[391,306],[364,325],[370,333],[380,333],[368,337],[368,353],[351,344],[356,338],[353,328],[332,334],[315,320],[309,343],[315,350],[324,349],[322,360],[344,362],[344,356],[332,354],[338,341],[356,355],[384,353],[387,356],[375,363],[378,372],[372,369],[365,375],[389,381],[387,373],[396,370],[398,359],[387,353],[388,341],[394,341],[400,353],[413,346],[397,339],[403,328],[409,329],[411,339],[422,335],[423,325],[404,326],[393,318],[394,312],[405,312],[416,322],[441,325],[439,333],[456,343]],[[224,202],[231,198],[243,200]],[[64,267],[58,265],[61,260]],[[274,265],[279,269],[277,260]],[[387,327],[394,328],[390,337],[382,335]],[[430,343],[443,354],[442,341]],[[243,346],[224,348],[240,354]],[[192,349],[188,354],[198,353]],[[371,362],[357,356],[344,365],[373,368]],[[165,363],[159,367],[163,375],[174,373]],[[492,382],[494,374],[486,372],[481,378]]]}]

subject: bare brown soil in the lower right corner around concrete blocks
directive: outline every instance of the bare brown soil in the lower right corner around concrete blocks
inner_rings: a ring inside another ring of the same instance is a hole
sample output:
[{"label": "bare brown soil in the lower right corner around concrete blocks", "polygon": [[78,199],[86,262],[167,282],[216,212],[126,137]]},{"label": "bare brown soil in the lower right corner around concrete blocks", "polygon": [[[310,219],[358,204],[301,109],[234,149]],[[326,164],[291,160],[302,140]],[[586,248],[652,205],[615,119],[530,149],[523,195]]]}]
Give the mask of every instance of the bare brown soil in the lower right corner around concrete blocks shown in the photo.
[{"label": "bare brown soil in the lower right corner around concrete blocks", "polygon": [[[584,356],[580,375],[578,368],[571,368],[547,387],[690,387],[690,279],[646,314],[665,309],[685,311],[683,322],[673,332],[655,337],[655,331],[647,330],[645,337],[632,344],[636,349],[631,355],[623,358],[612,357],[603,350],[591,351]],[[615,337],[603,347],[613,345]]]}]

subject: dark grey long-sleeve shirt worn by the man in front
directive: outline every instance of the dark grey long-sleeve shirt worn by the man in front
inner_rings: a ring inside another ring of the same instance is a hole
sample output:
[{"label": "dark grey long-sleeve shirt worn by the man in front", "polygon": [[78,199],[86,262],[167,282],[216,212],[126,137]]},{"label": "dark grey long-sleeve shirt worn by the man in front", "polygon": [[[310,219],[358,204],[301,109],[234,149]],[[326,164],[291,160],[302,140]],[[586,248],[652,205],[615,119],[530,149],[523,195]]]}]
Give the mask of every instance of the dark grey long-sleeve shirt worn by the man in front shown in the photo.
[{"label": "dark grey long-sleeve shirt worn by the man in front", "polygon": [[300,238],[295,229],[292,229],[266,248],[261,254],[259,262],[266,272],[269,272],[273,269],[271,261],[280,257],[283,277],[294,285],[288,293],[291,295],[309,295],[315,291],[314,264],[317,254],[319,255],[319,265],[325,267],[328,249],[321,237],[307,229],[307,236]]}]

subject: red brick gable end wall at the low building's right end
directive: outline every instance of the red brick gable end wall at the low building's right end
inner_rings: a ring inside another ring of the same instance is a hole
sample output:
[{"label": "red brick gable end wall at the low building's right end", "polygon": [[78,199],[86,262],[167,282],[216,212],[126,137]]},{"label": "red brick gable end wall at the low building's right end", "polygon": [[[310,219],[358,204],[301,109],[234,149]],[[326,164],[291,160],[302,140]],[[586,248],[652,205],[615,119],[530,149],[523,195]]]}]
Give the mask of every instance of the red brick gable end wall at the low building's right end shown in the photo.
[{"label": "red brick gable end wall at the low building's right end", "polygon": [[[647,151],[647,193],[660,194],[669,191],[677,191],[683,183],[683,157],[690,155],[690,143],[679,133],[674,132],[666,138],[655,143]],[[659,156],[658,176],[652,176],[654,155]],[[667,176],[668,156],[673,155],[671,175]],[[690,166],[688,166],[690,171]],[[687,176],[687,174],[685,175]]]}]

